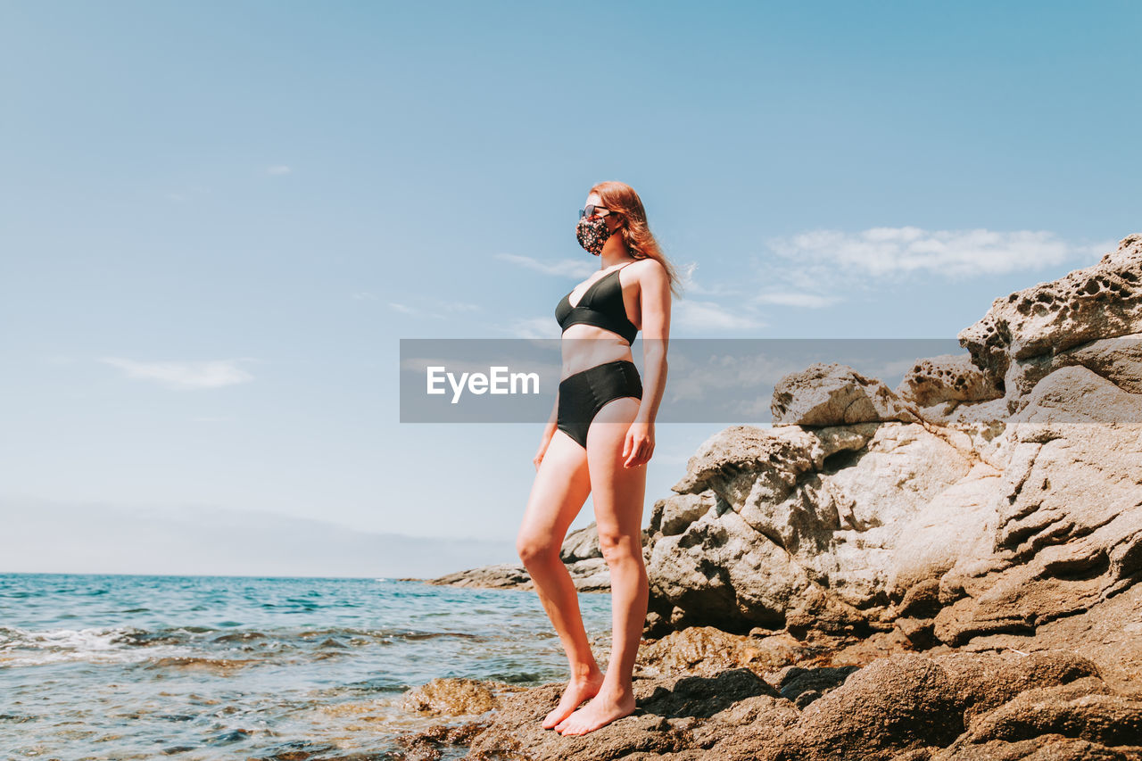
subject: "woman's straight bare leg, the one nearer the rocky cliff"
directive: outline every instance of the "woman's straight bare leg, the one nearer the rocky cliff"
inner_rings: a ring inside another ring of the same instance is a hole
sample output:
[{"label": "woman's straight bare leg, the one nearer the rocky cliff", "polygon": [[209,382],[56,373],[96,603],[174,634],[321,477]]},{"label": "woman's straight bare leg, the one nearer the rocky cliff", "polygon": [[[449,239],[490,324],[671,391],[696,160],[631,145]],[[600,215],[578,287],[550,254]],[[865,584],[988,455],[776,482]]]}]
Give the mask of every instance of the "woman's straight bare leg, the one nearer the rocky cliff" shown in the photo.
[{"label": "woman's straight bare leg, the one nearer the rocky cliff", "polygon": [[598,694],[556,726],[563,735],[582,735],[632,713],[632,675],[643,625],[649,587],[642,554],[642,514],[646,466],[622,466],[627,428],[640,400],[612,400],[600,410],[587,435],[587,462],[595,503],[598,544],[611,570],[611,658]]}]

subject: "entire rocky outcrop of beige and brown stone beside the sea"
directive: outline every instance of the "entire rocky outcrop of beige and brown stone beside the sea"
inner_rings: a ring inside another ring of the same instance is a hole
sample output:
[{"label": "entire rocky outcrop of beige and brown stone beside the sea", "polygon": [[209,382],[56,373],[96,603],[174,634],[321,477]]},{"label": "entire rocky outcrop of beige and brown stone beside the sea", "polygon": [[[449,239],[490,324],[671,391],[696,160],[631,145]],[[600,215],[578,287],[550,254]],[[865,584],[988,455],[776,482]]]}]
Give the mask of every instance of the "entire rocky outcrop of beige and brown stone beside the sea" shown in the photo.
[{"label": "entire rocky outcrop of beige and brown stone beside the sea", "polygon": [[959,342],[703,442],[644,536],[640,710],[562,737],[562,684],[510,695],[469,758],[1142,759],[1142,235]]}]

